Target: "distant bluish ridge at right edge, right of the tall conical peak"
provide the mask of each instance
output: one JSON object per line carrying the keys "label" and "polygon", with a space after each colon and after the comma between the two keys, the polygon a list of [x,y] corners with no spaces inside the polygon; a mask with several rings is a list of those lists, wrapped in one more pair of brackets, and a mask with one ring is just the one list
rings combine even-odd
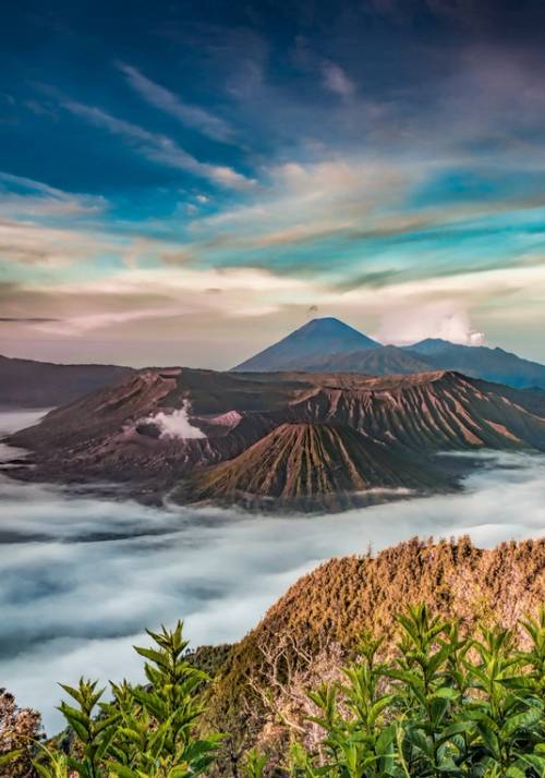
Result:
{"label": "distant bluish ridge at right edge, right of the tall conical peak", "polygon": [[404,347],[416,358],[438,369],[459,370],[467,376],[524,389],[545,388],[545,365],[523,360],[502,349],[460,345],[446,340],[423,340]]}

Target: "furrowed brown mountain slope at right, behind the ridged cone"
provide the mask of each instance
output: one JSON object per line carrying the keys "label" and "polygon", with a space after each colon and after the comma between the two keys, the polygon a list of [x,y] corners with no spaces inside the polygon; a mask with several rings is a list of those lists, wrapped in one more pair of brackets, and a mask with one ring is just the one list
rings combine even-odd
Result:
{"label": "furrowed brown mountain slope at right, behind the ridged cone", "polygon": [[[514,392],[514,394],[513,394]],[[292,404],[308,421],[344,424],[393,449],[424,451],[463,449],[545,450],[545,418],[534,414],[525,393],[504,391],[457,373],[361,378],[350,388],[322,386]]]}

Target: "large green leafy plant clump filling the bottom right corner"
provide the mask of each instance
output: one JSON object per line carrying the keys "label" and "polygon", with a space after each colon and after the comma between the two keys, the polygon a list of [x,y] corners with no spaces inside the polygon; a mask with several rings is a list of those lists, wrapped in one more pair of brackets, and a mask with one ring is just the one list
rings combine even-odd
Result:
{"label": "large green leafy plant clump filling the bottom right corner", "polygon": [[528,652],[511,630],[461,637],[456,621],[410,608],[387,664],[377,658],[382,641],[366,635],[344,680],[308,693],[323,738],[313,749],[292,745],[289,774],[543,778],[545,609],[523,627]]}

